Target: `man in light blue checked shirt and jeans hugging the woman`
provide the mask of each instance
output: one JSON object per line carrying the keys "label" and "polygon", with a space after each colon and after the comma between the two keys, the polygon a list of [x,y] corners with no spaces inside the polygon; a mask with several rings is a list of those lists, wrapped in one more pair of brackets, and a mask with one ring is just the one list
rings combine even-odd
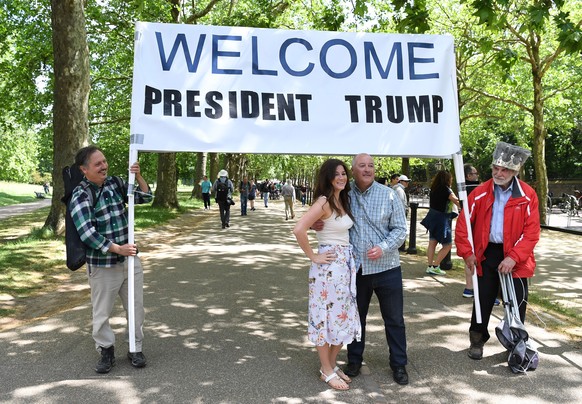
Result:
{"label": "man in light blue checked shirt and jeans hugging the woman", "polygon": [[[356,289],[362,326],[361,341],[348,345],[348,364],[344,373],[360,374],[366,344],[366,317],[375,293],[384,320],[389,362],[396,383],[408,384],[406,365],[406,332],[402,269],[398,247],[406,239],[404,205],[396,192],[374,180],[374,159],[358,154],[352,162],[354,181],[351,183],[350,207],[354,225],[350,229],[350,244],[356,259]],[[312,226],[321,230],[321,223]]]}

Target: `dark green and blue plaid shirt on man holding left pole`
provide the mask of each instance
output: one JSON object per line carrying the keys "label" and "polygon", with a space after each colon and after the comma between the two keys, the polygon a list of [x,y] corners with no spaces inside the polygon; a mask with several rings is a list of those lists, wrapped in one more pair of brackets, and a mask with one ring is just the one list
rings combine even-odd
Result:
{"label": "dark green and blue plaid shirt on man holding left pole", "polygon": [[[109,252],[112,243],[123,245],[127,244],[129,239],[124,200],[127,195],[127,184],[123,182],[123,189],[120,189],[114,179],[107,177],[103,187],[99,188],[87,179],[84,181],[87,181],[95,191],[96,201],[90,195],[91,191],[81,185],[77,186],[69,202],[71,217],[81,241],[87,246],[87,263],[111,267],[125,258]],[[137,184],[135,189],[136,204],[152,200],[150,189],[146,194],[137,193],[140,191]]]}

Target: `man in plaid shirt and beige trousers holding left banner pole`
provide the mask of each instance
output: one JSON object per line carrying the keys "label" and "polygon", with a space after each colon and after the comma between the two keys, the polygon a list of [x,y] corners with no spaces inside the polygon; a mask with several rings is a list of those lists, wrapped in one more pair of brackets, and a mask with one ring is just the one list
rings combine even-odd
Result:
{"label": "man in plaid shirt and beige trousers holding left banner pole", "polygon": [[[128,307],[127,259],[135,256],[135,346],[137,352],[128,357],[135,367],[146,365],[142,353],[143,341],[143,269],[137,257],[137,246],[128,243],[128,219],[125,207],[127,184],[109,177],[107,159],[96,146],[87,146],[77,152],[75,163],[85,175],[74,191],[69,206],[79,236],[87,247],[87,277],[91,286],[93,305],[93,339],[101,359],[97,373],[108,373],[115,365],[115,335],[109,317],[119,295],[123,307]],[[135,174],[139,188],[136,203],[150,202],[151,192],[140,174],[139,163],[130,171]],[[146,191],[145,193],[143,191]]]}

